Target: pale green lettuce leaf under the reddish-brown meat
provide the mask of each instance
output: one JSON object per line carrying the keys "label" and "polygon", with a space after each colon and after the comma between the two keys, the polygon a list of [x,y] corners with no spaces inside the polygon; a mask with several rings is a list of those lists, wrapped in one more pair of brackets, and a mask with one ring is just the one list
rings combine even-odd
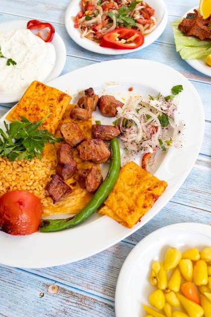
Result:
{"label": "pale green lettuce leaf under the reddish-brown meat", "polygon": [[178,19],[171,22],[176,51],[180,53],[182,59],[198,59],[211,54],[211,41],[200,41],[195,36],[186,36],[184,32],[178,29],[178,25],[182,21]]}

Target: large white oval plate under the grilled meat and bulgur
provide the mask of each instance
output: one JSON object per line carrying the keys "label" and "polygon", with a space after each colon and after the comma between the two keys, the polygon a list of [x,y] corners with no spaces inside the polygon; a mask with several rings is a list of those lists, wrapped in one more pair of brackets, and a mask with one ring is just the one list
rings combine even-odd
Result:
{"label": "large white oval plate under the grilled meat and bulgur", "polygon": [[[140,76],[139,69],[144,77]],[[187,78],[171,67],[141,59],[112,60],[79,68],[49,83],[49,86],[70,94],[73,103],[90,87],[99,95],[110,94],[121,100],[130,98],[132,93],[170,95],[175,85],[182,85],[184,89],[178,110],[179,118],[186,123],[186,145],[161,152],[153,174],[164,179],[168,186],[141,222],[128,229],[110,217],[96,213],[80,225],[59,232],[35,232],[28,236],[0,232],[0,263],[31,268],[61,265],[84,259],[118,243],[141,228],[170,201],[188,176],[201,146],[204,131],[201,100]],[[133,92],[129,91],[130,87]],[[0,128],[3,128],[4,118],[0,120]],[[101,123],[109,124],[107,119],[101,116]]]}

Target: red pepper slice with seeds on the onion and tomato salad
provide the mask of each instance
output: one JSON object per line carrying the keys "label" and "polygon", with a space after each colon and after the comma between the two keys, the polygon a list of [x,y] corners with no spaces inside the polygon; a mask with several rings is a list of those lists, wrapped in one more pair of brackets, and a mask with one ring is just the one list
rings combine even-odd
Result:
{"label": "red pepper slice with seeds on the onion and tomato salad", "polygon": [[133,50],[144,44],[144,35],[139,31],[121,27],[103,35],[100,46],[116,50]]}

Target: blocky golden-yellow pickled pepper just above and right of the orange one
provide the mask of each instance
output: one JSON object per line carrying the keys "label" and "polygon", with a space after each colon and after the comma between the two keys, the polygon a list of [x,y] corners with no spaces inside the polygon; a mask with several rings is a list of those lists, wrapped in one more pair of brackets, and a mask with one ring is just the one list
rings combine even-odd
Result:
{"label": "blocky golden-yellow pickled pepper just above and right of the orange one", "polygon": [[198,260],[193,265],[193,283],[197,286],[206,285],[208,282],[207,264],[204,260]]}

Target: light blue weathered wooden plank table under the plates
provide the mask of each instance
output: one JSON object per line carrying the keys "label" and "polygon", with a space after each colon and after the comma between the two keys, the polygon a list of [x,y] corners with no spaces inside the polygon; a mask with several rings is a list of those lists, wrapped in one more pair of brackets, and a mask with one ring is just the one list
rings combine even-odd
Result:
{"label": "light blue weathered wooden plank table under the plates", "polygon": [[[89,52],[72,41],[64,25],[69,3],[68,0],[2,0],[0,21],[37,19],[54,24],[67,50],[62,74],[114,58],[142,58],[175,68],[188,78],[201,98],[205,113],[204,138],[189,176],[171,201],[123,241],[89,258],[57,267],[18,269],[0,265],[0,316],[4,317],[115,316],[114,296],[118,274],[126,256],[139,241],[169,224],[211,224],[211,77],[193,69],[176,53],[170,25],[171,21],[197,6],[198,1],[165,0],[168,21],[162,35],[143,50],[115,57]],[[0,115],[11,106],[13,104],[1,105]]]}

